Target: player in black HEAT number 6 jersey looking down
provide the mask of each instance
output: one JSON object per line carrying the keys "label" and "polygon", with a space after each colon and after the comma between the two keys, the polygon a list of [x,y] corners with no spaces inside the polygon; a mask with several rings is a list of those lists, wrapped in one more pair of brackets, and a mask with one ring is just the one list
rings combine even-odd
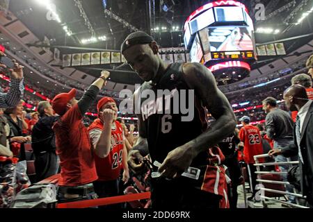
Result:
{"label": "player in black HEAT number 6 jersey looking down", "polygon": [[[129,164],[133,169],[141,169],[138,160],[147,153],[152,162],[160,163],[161,177],[152,178],[151,182],[152,207],[219,207],[225,193],[225,171],[218,164],[209,169],[208,158],[218,155],[212,153],[216,149],[210,148],[234,131],[236,118],[214,76],[199,63],[166,64],[159,57],[157,42],[141,31],[126,38],[121,52],[145,80],[134,94],[135,112],[136,108],[140,111],[136,112],[139,138],[129,152]],[[166,89],[172,94],[170,103],[166,96],[143,98],[145,92],[157,94],[157,90]],[[191,119],[186,117],[182,105],[194,110]],[[210,128],[207,110],[216,119]],[[193,173],[200,171],[198,179],[181,176],[188,167],[195,168]]]}

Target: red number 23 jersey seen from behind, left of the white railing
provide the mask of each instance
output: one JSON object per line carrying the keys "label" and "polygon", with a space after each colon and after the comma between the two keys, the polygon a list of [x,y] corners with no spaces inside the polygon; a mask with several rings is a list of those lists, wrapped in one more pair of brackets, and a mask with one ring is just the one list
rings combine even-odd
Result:
{"label": "red number 23 jersey seen from behind, left of the white railing", "polygon": [[259,128],[252,125],[243,126],[239,132],[239,138],[244,143],[243,159],[247,164],[254,164],[253,156],[263,154],[262,137],[259,134]]}

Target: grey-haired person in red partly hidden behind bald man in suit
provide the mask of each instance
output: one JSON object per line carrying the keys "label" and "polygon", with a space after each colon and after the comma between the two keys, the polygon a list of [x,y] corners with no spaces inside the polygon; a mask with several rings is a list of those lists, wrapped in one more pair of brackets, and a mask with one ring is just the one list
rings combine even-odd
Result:
{"label": "grey-haired person in red partly hidden behind bald man in suit", "polygon": [[[312,88],[312,78],[307,74],[298,74],[291,78],[291,85],[302,85],[305,87],[305,91],[307,92],[307,98],[313,100],[313,88]],[[296,123],[298,111],[291,112],[291,118]]]}

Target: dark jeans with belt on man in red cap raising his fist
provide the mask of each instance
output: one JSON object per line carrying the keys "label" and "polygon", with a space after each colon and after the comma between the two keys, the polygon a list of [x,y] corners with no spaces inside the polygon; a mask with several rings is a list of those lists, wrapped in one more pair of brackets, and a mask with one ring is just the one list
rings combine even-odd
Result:
{"label": "dark jeans with belt on man in red cap raising his fist", "polygon": [[78,200],[93,200],[97,198],[98,196],[95,193],[95,189],[93,189],[92,183],[77,187],[58,187],[58,203],[74,202]]}

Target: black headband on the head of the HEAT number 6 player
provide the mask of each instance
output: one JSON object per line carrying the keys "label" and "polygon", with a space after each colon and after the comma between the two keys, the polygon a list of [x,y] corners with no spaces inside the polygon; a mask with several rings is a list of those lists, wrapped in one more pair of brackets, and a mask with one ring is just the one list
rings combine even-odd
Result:
{"label": "black headband on the head of the HEAT number 6 player", "polygon": [[131,33],[126,37],[126,39],[122,43],[122,46],[120,46],[120,51],[121,53],[123,53],[123,51],[129,49],[131,46],[134,46],[136,44],[150,44],[153,41],[153,37],[143,31]]}

